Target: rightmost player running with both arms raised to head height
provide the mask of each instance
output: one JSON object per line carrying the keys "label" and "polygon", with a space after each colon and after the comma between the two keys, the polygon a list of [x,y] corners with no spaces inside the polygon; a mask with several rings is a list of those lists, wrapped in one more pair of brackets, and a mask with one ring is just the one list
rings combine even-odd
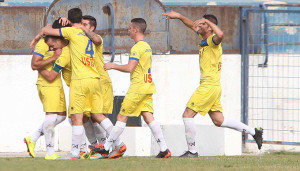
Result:
{"label": "rightmost player running with both arms raised to head height", "polygon": [[204,15],[203,18],[191,21],[187,17],[171,11],[164,13],[167,19],[179,19],[187,27],[194,30],[202,39],[199,49],[201,81],[194,92],[183,113],[185,135],[188,151],[180,157],[198,157],[196,149],[196,125],[194,117],[197,113],[209,114],[213,123],[218,127],[231,128],[240,132],[251,134],[255,139],[258,149],[262,146],[262,128],[252,128],[239,121],[223,116],[221,106],[221,67],[223,32],[217,26],[218,21],[214,15]]}

